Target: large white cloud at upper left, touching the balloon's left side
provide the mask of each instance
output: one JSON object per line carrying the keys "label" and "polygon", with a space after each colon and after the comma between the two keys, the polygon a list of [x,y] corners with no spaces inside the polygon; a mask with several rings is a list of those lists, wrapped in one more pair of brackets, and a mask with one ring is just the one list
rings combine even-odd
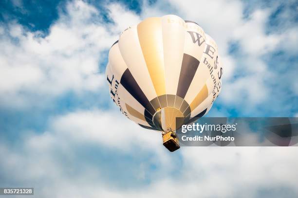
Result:
{"label": "large white cloud at upper left, touching the balloon's left side", "polygon": [[121,12],[125,16],[116,18],[115,25],[106,25],[94,21],[102,19],[90,4],[69,2],[66,14],[60,12],[48,35],[10,23],[0,36],[1,105],[26,107],[32,100],[56,97],[69,90],[98,91],[104,85],[104,74],[99,73],[104,71],[98,66],[103,61],[100,54],[117,39],[118,26],[135,17],[120,7],[113,9],[112,16]]}

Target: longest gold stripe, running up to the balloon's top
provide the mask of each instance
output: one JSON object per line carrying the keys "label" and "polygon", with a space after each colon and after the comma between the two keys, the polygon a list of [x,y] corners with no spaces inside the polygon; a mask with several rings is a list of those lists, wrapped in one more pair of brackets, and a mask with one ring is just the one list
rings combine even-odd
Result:
{"label": "longest gold stripe, running up to the balloon's top", "polygon": [[148,18],[137,26],[139,42],[157,96],[166,94],[161,18]]}

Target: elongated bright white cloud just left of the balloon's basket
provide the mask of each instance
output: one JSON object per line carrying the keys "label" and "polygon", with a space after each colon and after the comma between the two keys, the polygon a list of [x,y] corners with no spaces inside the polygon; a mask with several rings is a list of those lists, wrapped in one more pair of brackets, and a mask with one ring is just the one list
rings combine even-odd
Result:
{"label": "elongated bright white cloud just left of the balloon's basket", "polygon": [[[79,111],[59,116],[53,122],[53,131],[69,137],[78,142],[94,142],[113,148],[127,150],[133,143],[150,143],[146,147],[160,144],[161,134],[149,135],[140,126],[137,126],[124,117],[119,111],[102,112]],[[121,126],[125,126],[127,132],[121,132]],[[160,136],[157,138],[157,136]],[[145,146],[145,144],[142,144]]]}

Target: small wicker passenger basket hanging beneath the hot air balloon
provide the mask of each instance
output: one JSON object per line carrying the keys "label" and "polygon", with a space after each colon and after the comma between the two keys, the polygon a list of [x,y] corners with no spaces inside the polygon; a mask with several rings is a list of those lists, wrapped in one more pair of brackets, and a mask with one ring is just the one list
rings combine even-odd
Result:
{"label": "small wicker passenger basket hanging beneath the hot air balloon", "polygon": [[163,144],[168,148],[169,151],[173,152],[180,148],[179,139],[175,131],[172,131],[171,128],[168,128],[167,131],[162,132]]}

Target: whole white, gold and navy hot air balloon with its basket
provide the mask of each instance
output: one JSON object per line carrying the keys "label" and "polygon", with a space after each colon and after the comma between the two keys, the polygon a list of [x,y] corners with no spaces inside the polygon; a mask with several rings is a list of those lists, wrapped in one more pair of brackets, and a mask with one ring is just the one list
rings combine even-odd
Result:
{"label": "whole white, gold and navy hot air balloon with its basket", "polygon": [[[175,15],[127,28],[112,45],[106,68],[113,102],[139,126],[162,131],[170,151],[180,148],[176,129],[210,110],[222,74],[214,40]],[[178,117],[183,121],[176,123]]]}

